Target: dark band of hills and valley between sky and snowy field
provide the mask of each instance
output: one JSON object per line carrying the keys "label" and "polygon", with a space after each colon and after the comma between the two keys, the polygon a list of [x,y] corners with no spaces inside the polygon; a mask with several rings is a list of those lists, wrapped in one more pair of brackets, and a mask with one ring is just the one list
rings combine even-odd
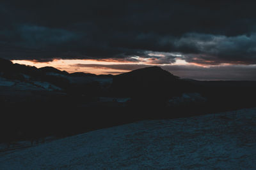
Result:
{"label": "dark band of hills and valley between sky and snowy field", "polygon": [[182,80],[161,67],[95,75],[0,60],[1,143],[256,106],[255,81]]}

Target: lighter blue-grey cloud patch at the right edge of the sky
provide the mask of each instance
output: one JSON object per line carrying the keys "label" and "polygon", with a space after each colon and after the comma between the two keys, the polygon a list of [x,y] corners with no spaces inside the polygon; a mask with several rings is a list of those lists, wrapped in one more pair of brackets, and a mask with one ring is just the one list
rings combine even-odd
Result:
{"label": "lighter blue-grey cloud patch at the right edge of the sky", "polygon": [[250,36],[220,36],[211,34],[188,34],[176,42],[177,47],[190,46],[196,53],[186,53],[187,62],[198,64],[256,63],[256,34]]}

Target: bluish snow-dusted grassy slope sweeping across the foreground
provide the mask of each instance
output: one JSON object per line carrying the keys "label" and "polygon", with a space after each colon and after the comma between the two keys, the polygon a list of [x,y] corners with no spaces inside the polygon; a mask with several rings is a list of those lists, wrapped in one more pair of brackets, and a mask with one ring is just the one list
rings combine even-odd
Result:
{"label": "bluish snow-dusted grassy slope sweeping across the foreground", "polygon": [[0,169],[256,169],[256,108],[142,121],[1,152]]}

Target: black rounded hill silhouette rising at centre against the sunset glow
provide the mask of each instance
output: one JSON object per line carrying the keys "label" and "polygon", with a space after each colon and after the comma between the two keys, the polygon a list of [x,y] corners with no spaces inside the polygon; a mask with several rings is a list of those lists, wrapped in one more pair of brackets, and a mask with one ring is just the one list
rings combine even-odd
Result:
{"label": "black rounded hill silhouette rising at centre against the sunset glow", "polygon": [[183,83],[161,67],[145,67],[113,77],[113,90],[121,96],[175,96]]}

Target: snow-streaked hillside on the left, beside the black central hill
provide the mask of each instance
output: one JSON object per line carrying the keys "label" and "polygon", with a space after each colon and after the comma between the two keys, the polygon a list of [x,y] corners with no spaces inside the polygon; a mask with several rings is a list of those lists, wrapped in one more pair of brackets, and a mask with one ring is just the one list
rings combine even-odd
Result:
{"label": "snow-streaked hillside on the left, beside the black central hill", "polygon": [[[93,87],[104,89],[112,83],[111,75],[95,75],[88,73],[67,73],[55,67],[31,67],[13,64],[0,58],[0,91],[2,87],[19,90],[48,90],[92,92]],[[88,93],[88,91],[86,91]],[[99,91],[99,90],[98,90]],[[84,93],[86,93],[84,92]],[[94,91],[93,91],[94,92]]]}

